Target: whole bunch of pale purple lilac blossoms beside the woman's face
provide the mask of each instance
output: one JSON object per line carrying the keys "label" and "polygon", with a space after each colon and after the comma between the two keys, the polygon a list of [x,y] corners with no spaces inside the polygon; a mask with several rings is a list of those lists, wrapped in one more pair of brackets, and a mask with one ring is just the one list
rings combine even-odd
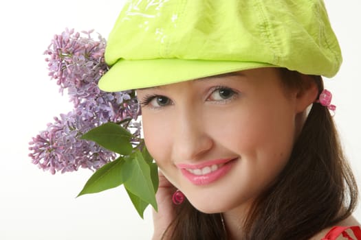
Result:
{"label": "whole bunch of pale purple lilac blossoms beside the woman's face", "polygon": [[47,129],[32,138],[30,144],[32,163],[41,169],[76,171],[79,167],[98,169],[116,158],[109,150],[80,136],[103,123],[113,121],[132,130],[133,141],[140,139],[140,115],[134,91],[107,93],[100,91],[98,81],[109,69],[104,60],[106,40],[98,34],[98,40],[90,32],[74,32],[65,29],[55,35],[45,51],[49,56],[49,75],[56,80],[63,94],[66,89],[74,109],[54,117]]}

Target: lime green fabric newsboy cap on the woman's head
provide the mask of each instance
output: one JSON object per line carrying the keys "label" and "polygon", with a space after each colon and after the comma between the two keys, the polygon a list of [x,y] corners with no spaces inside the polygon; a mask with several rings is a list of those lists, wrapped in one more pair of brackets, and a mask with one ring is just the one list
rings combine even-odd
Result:
{"label": "lime green fabric newsboy cap on the woman's head", "polygon": [[103,91],[285,67],[332,77],[342,56],[321,0],[134,0],[109,34]]}

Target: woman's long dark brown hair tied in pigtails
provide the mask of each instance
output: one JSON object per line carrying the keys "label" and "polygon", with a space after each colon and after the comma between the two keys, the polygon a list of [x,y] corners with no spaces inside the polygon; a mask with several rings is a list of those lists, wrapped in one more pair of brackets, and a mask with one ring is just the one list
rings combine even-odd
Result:
{"label": "woman's long dark brown hair tied in pigtails", "polygon": [[[306,75],[287,69],[280,73],[286,88],[305,87]],[[322,78],[308,77],[320,93]],[[309,239],[349,217],[357,199],[356,182],[330,112],[313,104],[285,169],[250,209],[243,226],[244,239]],[[177,208],[168,231],[174,240],[227,239],[219,213],[201,213],[188,201]]]}

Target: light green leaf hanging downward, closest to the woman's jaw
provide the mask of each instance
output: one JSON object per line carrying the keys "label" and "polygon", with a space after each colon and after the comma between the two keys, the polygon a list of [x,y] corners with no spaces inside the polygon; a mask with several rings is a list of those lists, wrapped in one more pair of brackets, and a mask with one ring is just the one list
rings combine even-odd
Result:
{"label": "light green leaf hanging downward, closest to the woman's jaw", "polygon": [[[139,150],[124,161],[122,176],[127,178],[124,187],[128,191],[140,197],[142,201],[151,204],[157,210],[151,169]],[[138,207],[135,206],[135,208]]]}

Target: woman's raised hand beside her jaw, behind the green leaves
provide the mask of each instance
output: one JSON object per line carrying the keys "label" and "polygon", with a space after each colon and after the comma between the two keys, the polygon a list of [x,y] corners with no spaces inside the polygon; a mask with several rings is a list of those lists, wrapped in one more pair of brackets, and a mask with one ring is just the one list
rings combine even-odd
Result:
{"label": "woman's raised hand beside her jaw, behind the green leaves", "polygon": [[[153,240],[162,239],[165,230],[175,218],[175,205],[172,202],[172,195],[177,189],[166,179],[166,177],[164,177],[161,171],[159,171],[159,180],[158,191],[155,195],[158,211],[156,212],[153,210]],[[172,231],[169,230],[168,235],[171,234],[171,232]],[[163,239],[170,239],[167,237],[168,235],[165,235]]]}

